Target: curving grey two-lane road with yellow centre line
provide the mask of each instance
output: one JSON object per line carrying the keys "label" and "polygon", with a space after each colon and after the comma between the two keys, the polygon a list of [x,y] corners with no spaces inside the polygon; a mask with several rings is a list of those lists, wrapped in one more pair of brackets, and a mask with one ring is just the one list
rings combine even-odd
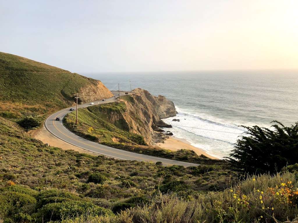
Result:
{"label": "curving grey two-lane road with yellow centre line", "polygon": [[[114,94],[118,94],[118,92],[113,92]],[[124,92],[121,92],[121,95],[123,95]],[[102,104],[102,103],[109,103],[109,102],[114,102],[116,101],[117,98],[108,98],[105,101],[94,101],[94,105]],[[92,106],[89,103],[79,105],[79,108],[85,108]],[[70,108],[76,108],[70,107]],[[125,150],[119,150],[113,147],[105,146],[98,144],[96,142],[91,142],[87,139],[83,139],[80,136],[77,136],[70,132],[63,124],[62,124],[62,119],[63,117],[71,112],[69,111],[70,108],[63,109],[59,112],[56,112],[49,116],[46,121],[45,121],[45,127],[46,129],[52,133],[54,136],[58,137],[59,139],[62,139],[65,142],[68,142],[74,146],[80,147],[84,150],[89,150],[94,153],[98,153],[104,156],[108,157],[113,157],[117,159],[124,159],[124,160],[137,160],[137,161],[145,161],[145,162],[153,162],[156,163],[158,161],[161,161],[164,165],[182,165],[185,167],[189,166],[198,166],[198,164],[193,164],[193,163],[187,163],[187,162],[181,162],[181,161],[175,161],[175,160],[170,160],[170,159],[164,159],[164,158],[159,158],[155,156],[147,156],[139,153],[132,153],[128,152]],[[60,121],[56,121],[56,117],[60,117]]]}

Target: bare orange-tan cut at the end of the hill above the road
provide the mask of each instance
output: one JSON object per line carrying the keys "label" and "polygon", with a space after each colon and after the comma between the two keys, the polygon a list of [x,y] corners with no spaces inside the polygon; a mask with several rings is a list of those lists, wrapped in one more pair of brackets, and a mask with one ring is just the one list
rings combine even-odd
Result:
{"label": "bare orange-tan cut at the end of the hill above the road", "polygon": [[112,92],[101,81],[81,87],[79,94],[83,103],[113,97]]}

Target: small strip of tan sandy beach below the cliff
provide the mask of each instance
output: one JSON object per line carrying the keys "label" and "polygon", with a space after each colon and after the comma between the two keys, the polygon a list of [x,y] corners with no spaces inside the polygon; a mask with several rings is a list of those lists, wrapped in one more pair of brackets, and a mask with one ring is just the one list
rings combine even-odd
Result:
{"label": "small strip of tan sandy beach below the cliff", "polygon": [[203,154],[204,156],[207,156],[209,158],[217,159],[216,157],[210,156],[209,154],[207,154],[204,150],[190,145],[190,143],[187,140],[180,139],[174,136],[169,136],[169,138],[166,139],[164,143],[156,143],[156,145],[161,147],[162,149],[167,149],[172,151],[177,151],[181,149],[193,150],[198,155]]}

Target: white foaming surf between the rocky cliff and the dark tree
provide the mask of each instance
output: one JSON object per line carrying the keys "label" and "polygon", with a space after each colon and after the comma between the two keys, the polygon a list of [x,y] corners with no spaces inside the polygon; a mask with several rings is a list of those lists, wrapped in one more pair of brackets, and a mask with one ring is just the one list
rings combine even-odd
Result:
{"label": "white foaming surf between the rocky cliff and the dark tree", "polygon": [[[195,147],[206,150],[207,153],[218,158],[228,156],[233,149],[238,136],[245,129],[233,123],[224,123],[215,117],[200,117],[192,111],[176,106],[176,117],[164,119],[173,126],[174,136],[184,138]],[[180,121],[173,121],[179,119]]]}

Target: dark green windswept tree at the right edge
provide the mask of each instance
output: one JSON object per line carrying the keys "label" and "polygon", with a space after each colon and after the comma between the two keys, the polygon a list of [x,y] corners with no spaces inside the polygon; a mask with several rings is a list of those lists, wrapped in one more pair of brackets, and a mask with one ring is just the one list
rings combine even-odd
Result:
{"label": "dark green windswept tree at the right edge", "polygon": [[232,168],[249,174],[274,173],[298,162],[298,122],[291,127],[272,123],[276,123],[272,125],[274,131],[257,125],[242,126],[249,136],[241,136],[227,158]]}

